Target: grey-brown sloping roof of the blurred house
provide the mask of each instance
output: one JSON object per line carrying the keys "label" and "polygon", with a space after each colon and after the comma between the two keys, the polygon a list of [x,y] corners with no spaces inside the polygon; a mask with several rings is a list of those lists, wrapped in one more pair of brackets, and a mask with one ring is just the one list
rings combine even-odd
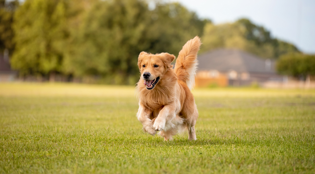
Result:
{"label": "grey-brown sloping roof of the blurred house", "polygon": [[236,49],[217,49],[198,55],[198,70],[276,73],[275,61]]}

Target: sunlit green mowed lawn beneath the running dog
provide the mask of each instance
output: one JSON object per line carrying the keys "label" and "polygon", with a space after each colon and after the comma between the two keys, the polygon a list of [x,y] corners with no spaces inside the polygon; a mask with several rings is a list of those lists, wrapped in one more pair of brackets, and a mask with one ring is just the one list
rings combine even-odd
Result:
{"label": "sunlit green mowed lawn beneath the running dog", "polygon": [[193,90],[199,118],[163,141],[135,87],[0,83],[0,173],[315,173],[315,90]]}

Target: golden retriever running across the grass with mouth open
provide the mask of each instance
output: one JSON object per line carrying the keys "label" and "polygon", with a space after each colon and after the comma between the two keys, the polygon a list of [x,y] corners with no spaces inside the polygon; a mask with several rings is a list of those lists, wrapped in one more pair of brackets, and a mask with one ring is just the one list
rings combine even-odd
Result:
{"label": "golden retriever running across the grass with mouth open", "polygon": [[198,36],[189,40],[179,52],[174,69],[174,55],[140,53],[137,118],[144,131],[152,135],[159,131],[167,141],[187,128],[188,139],[196,140],[198,110],[190,90],[195,84],[200,45]]}

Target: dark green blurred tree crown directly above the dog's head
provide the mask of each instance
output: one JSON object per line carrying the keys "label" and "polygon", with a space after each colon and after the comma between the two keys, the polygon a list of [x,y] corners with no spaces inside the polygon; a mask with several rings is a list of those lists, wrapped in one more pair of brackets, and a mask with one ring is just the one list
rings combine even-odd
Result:
{"label": "dark green blurred tree crown directly above the dog's head", "polygon": [[157,4],[149,12],[145,38],[149,42],[144,48],[148,52],[168,52],[178,55],[187,40],[202,36],[203,28],[210,20],[201,20],[196,13],[189,12],[179,3]]}

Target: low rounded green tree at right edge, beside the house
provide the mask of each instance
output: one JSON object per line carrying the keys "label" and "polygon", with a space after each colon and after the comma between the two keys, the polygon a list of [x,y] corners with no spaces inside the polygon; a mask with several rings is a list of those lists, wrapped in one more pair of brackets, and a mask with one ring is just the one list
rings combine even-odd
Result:
{"label": "low rounded green tree at right edge, beside the house", "polygon": [[284,75],[306,79],[315,76],[315,55],[287,54],[280,56],[277,70]]}

